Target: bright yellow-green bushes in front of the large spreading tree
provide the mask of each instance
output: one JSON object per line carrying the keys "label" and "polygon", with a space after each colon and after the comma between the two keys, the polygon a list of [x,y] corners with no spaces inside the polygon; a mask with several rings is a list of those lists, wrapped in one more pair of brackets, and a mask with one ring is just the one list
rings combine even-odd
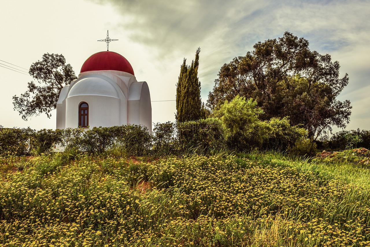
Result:
{"label": "bright yellow-green bushes in front of the large spreading tree", "polygon": [[307,136],[299,126],[291,126],[289,118],[262,121],[263,110],[253,99],[236,95],[213,111],[226,130],[226,145],[231,150],[249,151],[253,148],[285,151]]}

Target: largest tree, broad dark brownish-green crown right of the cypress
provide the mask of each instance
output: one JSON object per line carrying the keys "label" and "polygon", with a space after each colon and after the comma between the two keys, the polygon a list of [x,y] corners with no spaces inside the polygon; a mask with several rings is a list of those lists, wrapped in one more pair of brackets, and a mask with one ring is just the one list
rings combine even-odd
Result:
{"label": "largest tree, broad dark brownish-green crown right of the cypress", "polygon": [[352,107],[348,100],[336,99],[349,81],[347,74],[339,77],[339,62],[311,51],[308,40],[289,32],[253,48],[221,67],[208,95],[209,108],[240,95],[257,101],[265,112],[261,119],[289,116],[310,138],[332,131],[332,126],[345,128]]}

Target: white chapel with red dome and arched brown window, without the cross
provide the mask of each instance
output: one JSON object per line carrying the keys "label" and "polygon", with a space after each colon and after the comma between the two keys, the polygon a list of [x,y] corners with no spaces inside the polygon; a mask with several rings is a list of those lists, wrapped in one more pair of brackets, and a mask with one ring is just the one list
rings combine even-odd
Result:
{"label": "white chapel with red dome and arched brown window, without the cross", "polygon": [[147,82],[138,82],[125,57],[111,51],[91,55],[78,79],[64,86],[57,102],[57,129],[144,125],[152,131]]}

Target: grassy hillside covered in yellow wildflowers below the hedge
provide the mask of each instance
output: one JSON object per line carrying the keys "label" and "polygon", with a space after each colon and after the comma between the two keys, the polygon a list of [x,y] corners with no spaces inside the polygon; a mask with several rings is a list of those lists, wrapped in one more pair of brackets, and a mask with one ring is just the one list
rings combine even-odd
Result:
{"label": "grassy hillside covered in yellow wildflowers below the hedge", "polygon": [[281,155],[3,158],[1,246],[370,246],[370,172]]}

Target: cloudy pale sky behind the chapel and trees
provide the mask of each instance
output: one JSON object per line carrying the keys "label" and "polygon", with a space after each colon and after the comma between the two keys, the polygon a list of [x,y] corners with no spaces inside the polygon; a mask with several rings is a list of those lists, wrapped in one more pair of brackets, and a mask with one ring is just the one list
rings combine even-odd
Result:
{"label": "cloudy pale sky behind the chapel and trees", "polygon": [[27,90],[32,78],[26,71],[44,53],[63,54],[78,75],[90,55],[106,49],[97,40],[105,39],[107,30],[118,39],[110,50],[128,59],[138,81],[148,83],[152,101],[164,101],[152,102],[153,122],[174,121],[171,100],[180,65],[184,57],[190,63],[198,47],[206,102],[224,63],[289,31],[309,40],[311,50],[339,61],[341,76],[350,78],[339,96],[353,106],[347,129],[369,130],[369,13],[367,0],[2,1],[0,125],[55,129],[55,112],[51,119],[41,114],[23,121],[12,96]]}

